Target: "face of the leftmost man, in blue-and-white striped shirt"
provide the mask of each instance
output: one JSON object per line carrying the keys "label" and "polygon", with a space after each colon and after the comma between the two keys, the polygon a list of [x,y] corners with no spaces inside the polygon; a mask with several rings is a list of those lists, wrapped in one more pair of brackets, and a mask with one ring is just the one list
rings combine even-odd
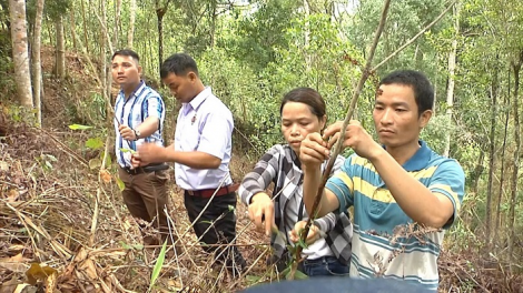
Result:
{"label": "face of the leftmost man, in blue-and-white striped shirt", "polygon": [[140,82],[141,67],[130,55],[115,55],[111,69],[112,79],[122,88]]}

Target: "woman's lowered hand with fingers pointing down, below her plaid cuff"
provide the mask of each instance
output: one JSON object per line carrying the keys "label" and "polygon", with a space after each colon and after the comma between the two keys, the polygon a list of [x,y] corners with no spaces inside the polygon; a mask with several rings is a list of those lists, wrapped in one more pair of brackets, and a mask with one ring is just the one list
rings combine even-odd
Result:
{"label": "woman's lowered hand with fingers pointing down, below her plaid cuff", "polygon": [[265,218],[265,234],[270,236],[270,230],[275,225],[274,222],[274,202],[270,196],[265,193],[256,193],[249,204],[249,219],[254,222],[257,230],[263,230],[262,224]]}

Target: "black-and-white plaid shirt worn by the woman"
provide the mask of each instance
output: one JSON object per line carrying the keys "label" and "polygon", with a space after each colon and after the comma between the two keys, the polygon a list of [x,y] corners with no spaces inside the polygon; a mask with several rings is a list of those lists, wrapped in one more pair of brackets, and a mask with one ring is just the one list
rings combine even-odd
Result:
{"label": "black-and-white plaid shirt worn by the woman", "polygon": [[[334,163],[332,174],[339,171],[345,158],[338,156]],[[327,166],[327,161],[322,164],[322,170]],[[275,222],[282,233],[273,233],[270,243],[277,259],[286,251],[287,240],[285,235],[285,210],[289,209],[287,202],[296,196],[297,189],[303,189],[303,171],[296,153],[288,144],[276,144],[270,148],[256,164],[255,169],[247,173],[239,186],[239,196],[245,204],[250,203],[254,194],[265,192],[270,182],[275,183],[273,194],[280,194],[274,200]],[[308,218],[304,212],[304,219]],[[334,255],[344,264],[351,261],[353,225],[346,213],[328,213],[314,220],[314,223],[327,234],[326,242]]]}

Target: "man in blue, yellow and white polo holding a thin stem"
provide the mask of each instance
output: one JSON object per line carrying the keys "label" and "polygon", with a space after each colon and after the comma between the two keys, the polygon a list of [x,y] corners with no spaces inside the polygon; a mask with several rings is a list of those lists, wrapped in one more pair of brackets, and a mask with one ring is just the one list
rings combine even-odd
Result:
{"label": "man in blue, yellow and white polo holding a thin stem", "polygon": [[[395,71],[381,81],[375,98],[373,119],[381,144],[357,121],[344,130],[343,146],[355,154],[328,180],[318,216],[354,206],[352,276],[398,279],[437,290],[437,257],[463,201],[465,176],[455,160],[420,140],[433,103],[434,90],[423,73]],[[302,142],[308,213],[320,182],[319,165],[341,125]]]}

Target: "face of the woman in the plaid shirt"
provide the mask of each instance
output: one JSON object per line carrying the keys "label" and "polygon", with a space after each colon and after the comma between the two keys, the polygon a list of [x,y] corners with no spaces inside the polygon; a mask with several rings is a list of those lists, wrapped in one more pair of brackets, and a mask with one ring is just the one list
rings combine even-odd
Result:
{"label": "face of the woman in the plaid shirt", "polygon": [[287,102],[282,109],[282,132],[290,148],[299,153],[302,141],[308,133],[319,132],[325,127],[326,118],[318,119],[309,105],[299,102]]}

